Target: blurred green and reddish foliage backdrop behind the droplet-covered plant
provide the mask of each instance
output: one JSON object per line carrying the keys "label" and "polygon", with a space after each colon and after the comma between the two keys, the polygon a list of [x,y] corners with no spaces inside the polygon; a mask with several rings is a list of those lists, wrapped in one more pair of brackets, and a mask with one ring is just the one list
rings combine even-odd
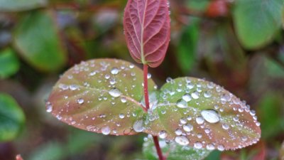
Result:
{"label": "blurred green and reddish foliage backdrop behind the droplet-covered plant", "polygon": [[[84,132],[45,112],[60,74],[81,60],[131,59],[126,0],[0,0],[0,159],[143,159],[143,137]],[[284,1],[171,0],[165,61],[150,72],[223,85],[256,110],[261,142],[207,159],[284,159]],[[134,62],[133,62],[134,63]],[[282,148],[281,148],[282,144]]]}

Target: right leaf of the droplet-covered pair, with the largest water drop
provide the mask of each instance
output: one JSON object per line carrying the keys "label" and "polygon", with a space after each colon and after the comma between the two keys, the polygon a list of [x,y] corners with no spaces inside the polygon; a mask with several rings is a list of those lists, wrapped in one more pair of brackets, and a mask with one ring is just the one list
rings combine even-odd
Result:
{"label": "right leaf of the droplet-covered pair, with the largest water drop", "polygon": [[[163,85],[144,132],[182,145],[239,149],[258,142],[254,111],[223,87],[197,78],[177,78]],[[147,123],[147,122],[146,122]]]}

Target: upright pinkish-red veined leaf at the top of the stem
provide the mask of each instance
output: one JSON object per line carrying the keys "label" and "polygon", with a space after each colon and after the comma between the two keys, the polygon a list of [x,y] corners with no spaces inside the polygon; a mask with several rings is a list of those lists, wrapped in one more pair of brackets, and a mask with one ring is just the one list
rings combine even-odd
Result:
{"label": "upright pinkish-red veined leaf at the top of the stem", "polygon": [[167,0],[129,0],[124,11],[124,33],[131,57],[155,68],[162,63],[170,42]]}

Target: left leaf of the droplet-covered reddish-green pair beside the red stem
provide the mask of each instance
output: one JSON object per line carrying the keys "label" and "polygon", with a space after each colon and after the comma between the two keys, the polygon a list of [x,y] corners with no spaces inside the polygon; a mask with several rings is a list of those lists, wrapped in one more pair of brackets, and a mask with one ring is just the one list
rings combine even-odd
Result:
{"label": "left leaf of the droplet-covered reddish-green pair beside the red stem", "polygon": [[[140,103],[142,82],[142,70],[124,60],[82,62],[62,75],[50,94],[47,111],[91,132],[136,134],[145,114]],[[150,91],[154,85],[149,80]]]}

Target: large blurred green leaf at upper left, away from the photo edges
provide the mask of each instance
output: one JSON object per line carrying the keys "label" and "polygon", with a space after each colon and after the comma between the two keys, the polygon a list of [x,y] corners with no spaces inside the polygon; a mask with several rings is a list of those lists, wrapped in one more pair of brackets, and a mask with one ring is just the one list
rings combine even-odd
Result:
{"label": "large blurred green leaf at upper left, away from the photo edges", "polygon": [[52,72],[65,65],[67,55],[48,11],[33,11],[24,16],[13,43],[23,59],[38,70]]}

